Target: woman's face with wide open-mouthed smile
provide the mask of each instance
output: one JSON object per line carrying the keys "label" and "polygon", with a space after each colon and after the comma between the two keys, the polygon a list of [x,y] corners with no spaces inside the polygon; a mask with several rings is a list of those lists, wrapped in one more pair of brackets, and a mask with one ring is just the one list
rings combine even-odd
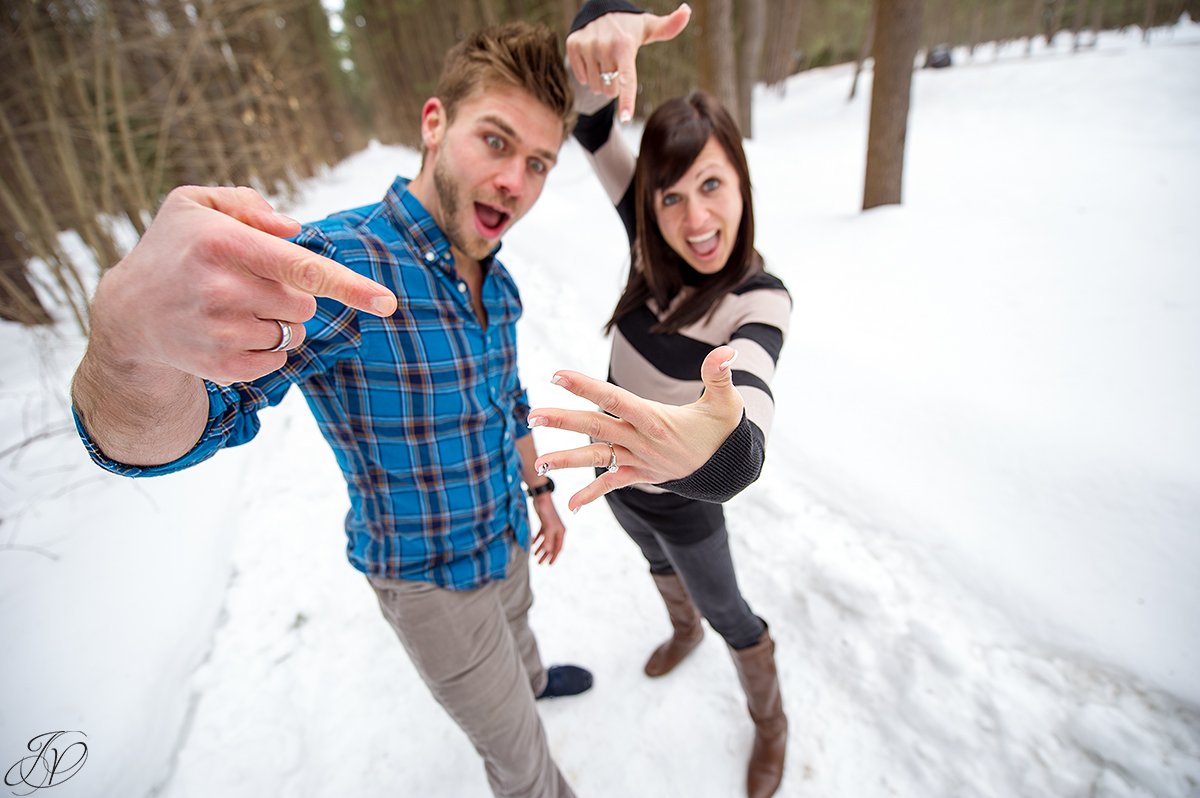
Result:
{"label": "woman's face with wide open-mouthed smile", "polygon": [[714,137],[672,186],[654,193],[666,242],[703,275],[725,268],[742,226],[742,180]]}

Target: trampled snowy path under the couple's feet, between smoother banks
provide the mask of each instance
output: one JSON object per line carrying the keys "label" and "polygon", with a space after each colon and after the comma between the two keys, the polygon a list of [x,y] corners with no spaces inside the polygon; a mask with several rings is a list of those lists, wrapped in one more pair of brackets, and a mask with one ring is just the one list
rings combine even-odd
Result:
{"label": "trampled snowy path under the couple's feet, between smoother banks", "polygon": [[[484,798],[474,751],[342,559],[338,474],[306,407],[286,409],[264,434],[305,467],[256,478],[163,794]],[[280,523],[281,504],[302,522]],[[641,674],[665,618],[598,510],[569,520],[566,556],[534,571],[545,658],[596,674],[587,696],[542,707],[556,755],[581,796],[737,794],[750,737],[728,654],[709,632],[674,676]],[[731,517],[744,590],[778,637],[793,724],[782,796],[1195,794],[1200,716],[1030,643],[928,552],[778,473]]]}

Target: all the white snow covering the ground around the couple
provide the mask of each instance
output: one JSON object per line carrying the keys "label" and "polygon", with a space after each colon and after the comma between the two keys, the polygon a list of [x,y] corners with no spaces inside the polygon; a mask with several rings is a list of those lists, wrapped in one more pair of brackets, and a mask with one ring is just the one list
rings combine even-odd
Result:
{"label": "all the white snow covering the ground around the couple", "polygon": [[[1200,25],[1060,44],[916,76],[902,208],[858,211],[848,67],[758,97],[760,248],[796,310],[768,466],[727,515],[779,647],[782,796],[1200,796]],[[415,167],[373,146],[284,210]],[[570,401],[556,368],[604,373],[623,240],[569,144],[504,251],[535,406]],[[248,446],[120,480],[68,426],[82,347],[0,326],[0,772],[70,731],[88,758],[55,798],[486,796],[344,560],[300,396]],[[587,476],[556,479],[565,504]],[[533,617],[547,661],[596,674],[542,707],[568,778],[739,794],[722,643],[644,678],[644,565],[602,504],[566,522]]]}

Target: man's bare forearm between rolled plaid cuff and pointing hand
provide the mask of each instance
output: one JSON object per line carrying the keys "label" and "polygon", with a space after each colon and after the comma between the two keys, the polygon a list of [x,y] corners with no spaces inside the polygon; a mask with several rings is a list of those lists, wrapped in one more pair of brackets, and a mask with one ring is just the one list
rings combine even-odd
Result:
{"label": "man's bare forearm between rolled plaid cuff and pointing hand", "polygon": [[208,424],[204,380],[168,367],[106,360],[95,342],[71,398],[88,434],[110,460],[158,466],[187,454]]}

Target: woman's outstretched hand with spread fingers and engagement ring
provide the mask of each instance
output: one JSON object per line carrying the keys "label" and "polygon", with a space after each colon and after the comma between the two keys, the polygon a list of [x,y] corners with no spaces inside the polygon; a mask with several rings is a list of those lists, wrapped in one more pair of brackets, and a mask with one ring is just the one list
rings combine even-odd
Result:
{"label": "woman's outstretched hand with spread fingers and engagement ring", "polygon": [[570,498],[566,506],[572,512],[618,487],[688,476],[708,462],[742,421],[744,403],[733,388],[731,370],[736,358],[732,347],[708,353],[700,370],[703,395],[678,407],[642,398],[578,372],[557,372],[554,384],[595,402],[600,409],[539,408],[529,413],[529,426],[582,432],[594,443],[542,455],[536,461],[538,473],[610,469]]}

